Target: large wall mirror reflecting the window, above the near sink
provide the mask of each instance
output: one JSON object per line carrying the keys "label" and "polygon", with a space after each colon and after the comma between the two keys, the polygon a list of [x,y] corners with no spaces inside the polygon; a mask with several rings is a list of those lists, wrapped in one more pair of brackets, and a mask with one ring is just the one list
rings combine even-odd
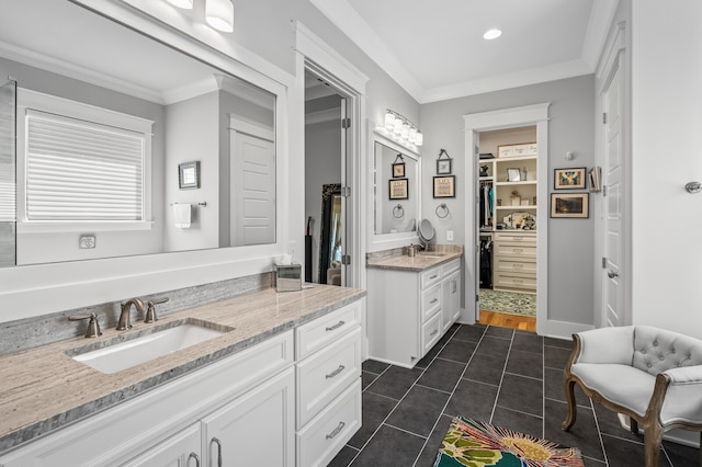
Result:
{"label": "large wall mirror reflecting the window, above the near sink", "polygon": [[0,266],[276,242],[273,93],[69,1],[2,9]]}

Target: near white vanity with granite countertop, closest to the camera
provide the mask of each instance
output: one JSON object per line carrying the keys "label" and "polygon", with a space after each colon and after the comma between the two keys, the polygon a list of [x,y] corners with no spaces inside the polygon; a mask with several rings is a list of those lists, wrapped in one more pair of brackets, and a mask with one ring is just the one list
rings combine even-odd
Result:
{"label": "near white vanity with granite countertop, closest to the camera", "polygon": [[361,425],[364,295],[264,289],[174,312],[157,326],[227,332],[113,374],[70,355],[115,330],[0,357],[0,465],[327,465]]}

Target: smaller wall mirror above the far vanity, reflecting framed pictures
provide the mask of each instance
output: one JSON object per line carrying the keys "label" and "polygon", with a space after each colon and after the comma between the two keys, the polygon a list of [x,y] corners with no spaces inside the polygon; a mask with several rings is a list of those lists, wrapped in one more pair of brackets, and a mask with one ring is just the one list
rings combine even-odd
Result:
{"label": "smaller wall mirror above the far vanity, reflecting framed pictures", "polygon": [[421,198],[419,166],[418,153],[375,134],[373,244],[417,238]]}

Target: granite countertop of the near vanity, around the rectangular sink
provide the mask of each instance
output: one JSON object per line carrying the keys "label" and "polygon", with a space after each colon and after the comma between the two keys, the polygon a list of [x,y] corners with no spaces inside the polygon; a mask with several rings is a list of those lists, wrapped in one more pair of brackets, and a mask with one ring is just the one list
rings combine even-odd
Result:
{"label": "granite countertop of the near vanity, around the rectangular sink", "polygon": [[[364,296],[358,288],[319,284],[282,294],[268,288],[169,314],[156,323],[133,320],[129,331],[103,329],[97,339],[75,338],[0,356],[0,453]],[[234,330],[110,375],[66,353],[184,318]]]}

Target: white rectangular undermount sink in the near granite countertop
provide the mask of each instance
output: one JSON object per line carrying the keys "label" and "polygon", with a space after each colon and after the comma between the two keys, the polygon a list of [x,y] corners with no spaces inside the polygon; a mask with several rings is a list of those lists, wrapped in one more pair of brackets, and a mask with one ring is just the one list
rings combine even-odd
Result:
{"label": "white rectangular undermount sink in the near granite countertop", "polygon": [[234,328],[195,319],[172,321],[67,352],[75,361],[112,374],[223,335]]}

